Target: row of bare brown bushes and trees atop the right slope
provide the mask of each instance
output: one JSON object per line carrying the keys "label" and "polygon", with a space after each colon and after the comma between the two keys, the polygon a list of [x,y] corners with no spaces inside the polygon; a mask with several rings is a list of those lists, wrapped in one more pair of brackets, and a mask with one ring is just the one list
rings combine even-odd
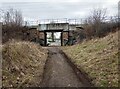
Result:
{"label": "row of bare brown bushes and trees atop the right slope", "polygon": [[107,18],[107,9],[94,9],[84,20],[82,29],[72,32],[74,38],[80,41],[89,40],[96,37],[104,37],[110,32],[120,30],[118,15],[111,16],[109,21],[106,21]]}

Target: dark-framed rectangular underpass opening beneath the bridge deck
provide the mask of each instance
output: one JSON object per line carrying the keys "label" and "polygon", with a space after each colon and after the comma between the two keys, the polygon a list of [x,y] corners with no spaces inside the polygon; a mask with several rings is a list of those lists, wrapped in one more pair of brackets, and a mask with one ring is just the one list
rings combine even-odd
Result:
{"label": "dark-framed rectangular underpass opening beneath the bridge deck", "polygon": [[65,40],[64,33],[67,33],[66,40],[69,39],[69,31],[64,31],[63,29],[51,29],[40,32],[44,33],[44,46],[63,46]]}

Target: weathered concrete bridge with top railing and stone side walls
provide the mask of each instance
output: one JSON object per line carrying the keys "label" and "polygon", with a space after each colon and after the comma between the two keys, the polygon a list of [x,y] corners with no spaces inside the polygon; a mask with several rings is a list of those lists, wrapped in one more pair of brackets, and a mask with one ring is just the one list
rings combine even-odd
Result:
{"label": "weathered concrete bridge with top railing and stone side walls", "polygon": [[[44,22],[44,21],[43,21]],[[63,45],[72,45],[73,44],[73,34],[72,31],[75,31],[77,26],[80,24],[70,24],[69,21],[64,20],[51,20],[44,23],[39,23],[37,30],[39,31],[38,39],[42,46],[63,46]],[[59,37],[56,39],[54,36],[58,34]],[[51,35],[48,37],[48,35]]]}

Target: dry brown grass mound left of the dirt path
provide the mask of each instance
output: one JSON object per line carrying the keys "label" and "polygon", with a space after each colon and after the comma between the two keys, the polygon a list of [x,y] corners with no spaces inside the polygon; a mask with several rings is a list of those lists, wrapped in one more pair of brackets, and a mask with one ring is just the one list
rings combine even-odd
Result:
{"label": "dry brown grass mound left of the dirt path", "polygon": [[2,50],[3,87],[39,87],[47,50],[31,42],[8,42]]}

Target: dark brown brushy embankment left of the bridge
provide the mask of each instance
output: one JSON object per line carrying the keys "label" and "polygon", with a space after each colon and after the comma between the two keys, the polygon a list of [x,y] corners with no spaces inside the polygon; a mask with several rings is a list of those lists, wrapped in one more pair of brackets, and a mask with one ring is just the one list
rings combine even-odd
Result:
{"label": "dark brown brushy embankment left of the bridge", "polygon": [[36,41],[38,39],[38,31],[30,29],[30,27],[2,27],[2,43],[6,43],[11,39],[19,41]]}

